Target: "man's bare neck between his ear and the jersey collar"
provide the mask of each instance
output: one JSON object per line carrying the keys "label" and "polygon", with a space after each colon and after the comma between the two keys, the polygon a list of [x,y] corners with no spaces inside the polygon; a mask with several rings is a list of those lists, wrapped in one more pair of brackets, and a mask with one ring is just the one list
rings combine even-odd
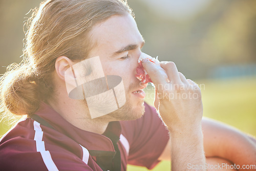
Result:
{"label": "man's bare neck between his ear and the jersey collar", "polygon": [[56,73],[54,78],[55,91],[53,98],[48,100],[49,105],[79,129],[103,134],[110,119],[102,117],[92,119],[86,102],[69,98],[65,81],[59,79]]}

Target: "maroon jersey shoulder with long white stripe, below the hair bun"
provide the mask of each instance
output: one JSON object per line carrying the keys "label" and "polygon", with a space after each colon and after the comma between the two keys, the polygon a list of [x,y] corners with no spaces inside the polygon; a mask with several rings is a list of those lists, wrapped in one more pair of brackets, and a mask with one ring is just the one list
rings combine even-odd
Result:
{"label": "maroon jersey shoulder with long white stripe, below the hair bun", "polygon": [[[0,142],[3,170],[92,170],[79,144],[32,119],[19,122]],[[87,162],[91,162],[91,157]]]}

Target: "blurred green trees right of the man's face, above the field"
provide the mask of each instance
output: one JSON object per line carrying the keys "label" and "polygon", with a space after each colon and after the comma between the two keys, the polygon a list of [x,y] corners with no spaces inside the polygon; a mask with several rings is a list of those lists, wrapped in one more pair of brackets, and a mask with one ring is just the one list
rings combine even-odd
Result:
{"label": "blurred green trees right of the man's face, above the field", "polygon": [[182,20],[144,2],[128,0],[146,40],[143,50],[174,61],[187,77],[206,78],[223,63],[256,62],[256,1],[215,0]]}

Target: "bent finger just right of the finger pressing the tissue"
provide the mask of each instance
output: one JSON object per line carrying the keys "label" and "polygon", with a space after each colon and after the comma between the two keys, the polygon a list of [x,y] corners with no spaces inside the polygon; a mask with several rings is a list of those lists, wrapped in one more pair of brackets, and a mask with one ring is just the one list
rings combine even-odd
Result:
{"label": "bent finger just right of the finger pressing the tissue", "polygon": [[174,84],[181,84],[181,78],[174,62],[160,62],[160,66],[166,71],[169,80]]}

